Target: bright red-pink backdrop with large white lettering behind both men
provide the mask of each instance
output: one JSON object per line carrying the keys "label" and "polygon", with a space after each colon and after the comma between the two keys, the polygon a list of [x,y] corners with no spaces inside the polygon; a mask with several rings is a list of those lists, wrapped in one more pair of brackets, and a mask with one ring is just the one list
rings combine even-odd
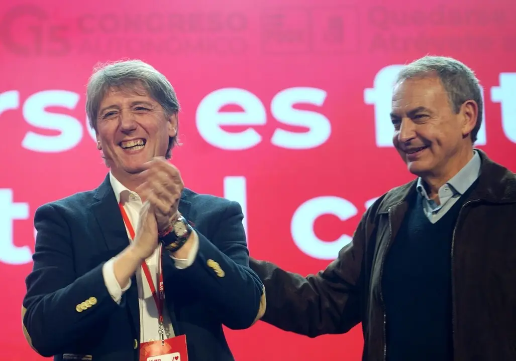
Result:
{"label": "bright red-pink backdrop with large white lettering behind both men", "polygon": [[[425,54],[470,65],[485,91],[479,146],[516,170],[513,0],[3,2],[0,5],[0,355],[37,360],[20,308],[36,208],[104,167],[85,85],[139,58],[178,92],[187,187],[241,203],[253,256],[308,274],[349,242],[368,201],[412,176],[390,144],[390,84]],[[228,331],[238,360],[359,360],[360,327],[308,339]]]}

